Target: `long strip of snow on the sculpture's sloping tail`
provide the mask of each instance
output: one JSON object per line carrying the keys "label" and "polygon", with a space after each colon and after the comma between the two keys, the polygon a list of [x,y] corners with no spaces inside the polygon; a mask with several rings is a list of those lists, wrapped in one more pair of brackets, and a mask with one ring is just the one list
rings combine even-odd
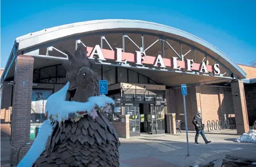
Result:
{"label": "long strip of snow on the sculpture's sloping tail", "polygon": [[26,153],[26,156],[22,158],[21,162],[18,164],[18,167],[28,167],[33,165],[40,154],[45,150],[47,139],[52,134],[52,131],[53,126],[51,125],[51,121],[44,121],[37,138],[34,140],[29,152]]}

